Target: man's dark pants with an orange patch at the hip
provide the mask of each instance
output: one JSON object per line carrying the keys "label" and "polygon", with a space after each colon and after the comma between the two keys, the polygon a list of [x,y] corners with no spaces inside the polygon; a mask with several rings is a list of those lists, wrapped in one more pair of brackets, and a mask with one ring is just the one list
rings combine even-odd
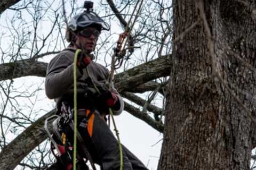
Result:
{"label": "man's dark pants with an orange patch at the hip", "polygon": [[[90,117],[89,126],[87,131],[81,127],[78,128],[78,131],[84,138],[85,145],[89,149],[94,162],[99,164],[102,170],[119,170],[118,141],[110,131],[106,121],[98,112],[95,112]],[[122,146],[122,150],[124,170],[148,170],[127,148]]]}

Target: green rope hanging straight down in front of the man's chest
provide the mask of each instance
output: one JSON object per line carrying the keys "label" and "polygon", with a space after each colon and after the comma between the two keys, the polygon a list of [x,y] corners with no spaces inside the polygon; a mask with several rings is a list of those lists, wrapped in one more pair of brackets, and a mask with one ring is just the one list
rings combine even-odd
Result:
{"label": "green rope hanging straight down in front of the man's chest", "polygon": [[77,150],[77,87],[76,87],[76,63],[77,56],[81,52],[81,49],[77,49],[74,57],[74,152],[73,152],[73,170],[76,170],[76,150]]}

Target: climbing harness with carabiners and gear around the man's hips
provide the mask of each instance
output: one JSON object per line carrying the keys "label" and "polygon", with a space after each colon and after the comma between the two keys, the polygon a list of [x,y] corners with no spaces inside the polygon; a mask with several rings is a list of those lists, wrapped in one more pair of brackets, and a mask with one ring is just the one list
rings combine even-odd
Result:
{"label": "climbing harness with carabiners and gear around the man's hips", "polygon": [[[82,128],[87,128],[88,120],[90,119],[93,111],[87,110],[87,115],[84,113],[81,116],[85,115],[79,126]],[[77,139],[79,142],[79,146],[81,146],[83,152],[77,153],[76,163],[72,163],[74,155],[73,150],[74,147],[71,145],[71,141],[69,139],[69,134],[74,132],[74,109],[67,106],[64,102],[62,102],[61,111],[58,115],[53,115],[45,120],[44,128],[45,131],[51,141],[51,151],[54,157],[57,159],[57,163],[61,169],[70,170],[72,167],[76,167],[78,165],[78,169],[89,169],[86,165],[87,160],[89,160],[93,170],[96,170],[93,159],[89,154],[89,151],[84,145],[84,140],[79,132],[77,132]],[[53,120],[51,123],[52,131],[49,130],[49,122]],[[55,154],[54,150],[57,152]],[[86,159],[86,162],[84,161]]]}

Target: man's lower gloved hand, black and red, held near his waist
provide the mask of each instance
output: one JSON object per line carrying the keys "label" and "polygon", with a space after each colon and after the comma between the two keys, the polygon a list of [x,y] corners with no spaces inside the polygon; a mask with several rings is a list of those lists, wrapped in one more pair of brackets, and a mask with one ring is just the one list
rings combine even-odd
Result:
{"label": "man's lower gloved hand, black and red, held near his waist", "polygon": [[109,107],[118,109],[117,105],[118,97],[114,92],[106,90],[98,96],[98,104],[101,110],[106,111]]}

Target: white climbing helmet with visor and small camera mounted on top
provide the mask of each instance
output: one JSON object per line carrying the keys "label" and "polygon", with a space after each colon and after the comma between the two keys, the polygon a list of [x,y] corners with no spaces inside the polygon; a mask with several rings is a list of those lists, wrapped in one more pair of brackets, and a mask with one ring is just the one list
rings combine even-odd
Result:
{"label": "white climbing helmet with visor and small camera mounted on top", "polygon": [[86,11],[75,15],[68,22],[67,31],[66,31],[66,39],[68,42],[72,39],[72,34],[76,32],[78,29],[88,27],[90,25],[94,25],[97,27],[99,31],[101,30],[109,30],[109,25],[103,21],[100,16],[98,16],[95,12],[93,12],[93,2],[85,1],[84,7]]}

